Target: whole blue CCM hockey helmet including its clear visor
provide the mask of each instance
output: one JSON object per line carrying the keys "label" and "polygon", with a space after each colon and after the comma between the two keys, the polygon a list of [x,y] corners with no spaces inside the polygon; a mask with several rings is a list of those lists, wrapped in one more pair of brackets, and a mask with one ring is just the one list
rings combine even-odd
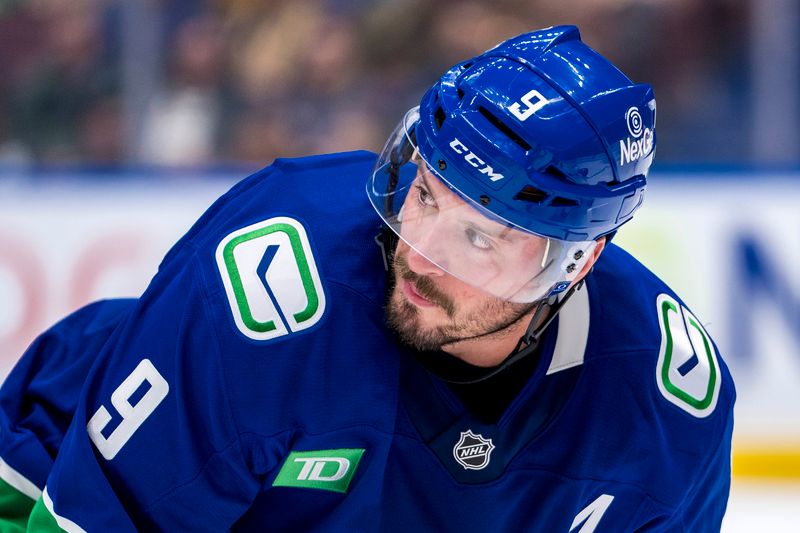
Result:
{"label": "whole blue CCM hockey helmet including its clear visor", "polygon": [[[594,242],[641,205],[655,118],[652,88],[576,27],[526,33],[439,79],[389,138],[368,193],[443,270],[535,301],[566,288]],[[531,253],[504,249],[508,237]]]}

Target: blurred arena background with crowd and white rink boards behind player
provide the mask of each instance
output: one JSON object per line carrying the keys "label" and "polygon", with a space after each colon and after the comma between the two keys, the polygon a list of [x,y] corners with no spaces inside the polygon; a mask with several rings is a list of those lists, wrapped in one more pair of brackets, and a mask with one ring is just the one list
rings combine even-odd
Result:
{"label": "blurred arena background with crowd and white rink boards behind player", "polygon": [[655,87],[656,166],[618,242],[737,380],[723,531],[796,530],[795,0],[0,0],[0,377],[60,316],[141,292],[237,179],[379,150],[451,64],[563,23]]}

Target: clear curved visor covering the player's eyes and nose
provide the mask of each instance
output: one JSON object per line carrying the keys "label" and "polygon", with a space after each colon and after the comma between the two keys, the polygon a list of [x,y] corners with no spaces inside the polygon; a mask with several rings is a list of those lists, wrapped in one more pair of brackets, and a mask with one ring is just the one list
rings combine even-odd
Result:
{"label": "clear curved visor covering the player's eyes and nose", "polygon": [[406,113],[367,185],[386,224],[437,268],[503,300],[534,302],[566,289],[594,241],[536,235],[461,195],[421,156],[418,121],[418,108]]}

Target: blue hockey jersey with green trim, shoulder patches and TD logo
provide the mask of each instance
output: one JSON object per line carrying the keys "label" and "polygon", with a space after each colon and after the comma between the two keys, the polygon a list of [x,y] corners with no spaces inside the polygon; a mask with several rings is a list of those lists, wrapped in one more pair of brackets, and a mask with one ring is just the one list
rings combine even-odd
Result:
{"label": "blue hockey jersey with green trim, shoulder patches and TD logo", "polygon": [[718,530],[735,392],[700,320],[610,245],[482,422],[384,323],[373,162],[276,161],[138,300],[44,333],[0,391],[4,525]]}

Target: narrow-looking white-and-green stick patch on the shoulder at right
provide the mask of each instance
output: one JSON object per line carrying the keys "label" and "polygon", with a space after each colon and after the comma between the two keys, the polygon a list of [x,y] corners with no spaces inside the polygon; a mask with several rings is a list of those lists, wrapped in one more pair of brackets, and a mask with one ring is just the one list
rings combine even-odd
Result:
{"label": "narrow-looking white-and-green stick patch on the shoulder at right", "polygon": [[661,328],[658,390],[687,413],[704,418],[717,405],[722,381],[711,338],[697,318],[671,296],[660,294],[656,309]]}

